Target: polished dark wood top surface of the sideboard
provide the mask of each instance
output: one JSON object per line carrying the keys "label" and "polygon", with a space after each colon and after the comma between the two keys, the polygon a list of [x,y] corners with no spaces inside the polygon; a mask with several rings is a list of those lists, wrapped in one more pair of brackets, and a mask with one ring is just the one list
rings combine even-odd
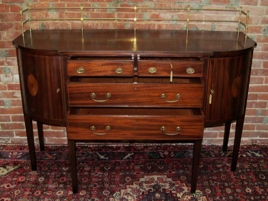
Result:
{"label": "polished dark wood top surface of the sideboard", "polygon": [[245,35],[229,31],[28,30],[13,44],[37,52],[66,55],[222,55],[253,48]]}

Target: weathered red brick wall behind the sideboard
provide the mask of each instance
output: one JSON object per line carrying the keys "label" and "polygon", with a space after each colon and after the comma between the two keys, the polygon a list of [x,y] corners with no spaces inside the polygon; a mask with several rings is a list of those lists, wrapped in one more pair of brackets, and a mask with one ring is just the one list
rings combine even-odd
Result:
{"label": "weathered red brick wall behind the sideboard", "polygon": [[[0,0],[1,1],[1,0]],[[266,0],[154,0],[154,1],[111,1],[98,0],[94,3],[87,0],[42,0],[42,1],[24,1],[24,0],[2,0],[0,4],[0,142],[26,144],[26,133],[22,114],[21,93],[19,84],[19,75],[17,69],[17,59],[15,48],[12,46],[12,40],[21,34],[19,9],[26,8],[27,4],[31,7],[79,7],[80,2],[84,6],[128,6],[134,2],[138,5],[148,7],[182,7],[187,8],[191,4],[193,8],[239,8],[250,11],[248,35],[257,42],[254,50],[252,73],[250,79],[249,95],[247,102],[246,117],[242,135],[242,143],[268,143],[268,1]],[[103,11],[101,11],[101,14]],[[75,16],[74,13],[60,14],[58,12],[36,14]],[[88,14],[90,15],[90,14]],[[98,13],[96,14],[98,15]],[[100,14],[99,14],[100,15]],[[115,15],[110,11],[110,16]],[[125,13],[124,15],[128,15]],[[143,14],[146,15],[146,14]],[[168,15],[168,14],[161,14]],[[162,18],[159,14],[154,14],[155,18]],[[212,17],[217,19],[234,18],[233,14],[213,13],[213,16],[202,15],[202,18]],[[174,18],[174,16],[165,16]],[[200,17],[200,16],[199,16]],[[49,22],[33,23],[34,29],[79,29],[79,22]],[[84,28],[132,28],[131,24],[109,22],[94,22],[86,24]],[[178,25],[174,23],[140,23],[140,28],[147,29],[185,29],[185,24]],[[234,27],[227,24],[191,24],[191,29],[207,30],[233,30]],[[35,135],[37,136],[36,124],[34,124]],[[232,125],[230,133],[230,143],[232,144],[234,136],[235,123]],[[208,128],[204,133],[204,144],[221,144],[223,139],[224,127]],[[65,128],[44,126],[45,142],[49,144],[66,143]],[[57,136],[55,138],[55,136]],[[38,138],[36,138],[38,142]]]}

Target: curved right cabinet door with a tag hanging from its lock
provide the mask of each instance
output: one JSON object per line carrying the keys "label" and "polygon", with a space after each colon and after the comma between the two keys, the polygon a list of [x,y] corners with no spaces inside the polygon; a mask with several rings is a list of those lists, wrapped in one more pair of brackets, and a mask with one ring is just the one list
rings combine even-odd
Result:
{"label": "curved right cabinet door with a tag hanging from its lock", "polygon": [[252,51],[209,61],[206,125],[232,122],[245,110]]}

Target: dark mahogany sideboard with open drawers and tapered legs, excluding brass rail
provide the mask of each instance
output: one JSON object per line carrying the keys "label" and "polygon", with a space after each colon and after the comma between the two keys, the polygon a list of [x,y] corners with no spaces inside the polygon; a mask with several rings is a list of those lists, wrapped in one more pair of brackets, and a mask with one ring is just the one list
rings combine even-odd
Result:
{"label": "dark mahogany sideboard with open drawers and tapered legs, excluding brass rail", "polygon": [[256,43],[242,32],[27,30],[16,46],[31,166],[43,124],[67,127],[73,192],[75,142],[193,142],[195,192],[204,127],[236,121],[236,169]]}

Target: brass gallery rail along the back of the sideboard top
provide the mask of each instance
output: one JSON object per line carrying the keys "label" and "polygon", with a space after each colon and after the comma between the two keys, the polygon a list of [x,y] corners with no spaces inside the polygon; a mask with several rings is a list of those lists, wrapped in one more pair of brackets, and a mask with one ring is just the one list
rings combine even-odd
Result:
{"label": "brass gallery rail along the back of the sideboard top", "polygon": [[[20,16],[21,16],[21,27],[22,27],[22,34],[24,35],[24,25],[26,23],[29,23],[29,30],[31,31],[31,21],[49,21],[49,20],[77,20],[81,21],[81,30],[83,30],[83,21],[86,20],[121,20],[121,21],[132,21],[134,22],[134,30],[136,30],[136,22],[137,21],[182,21],[186,22],[186,31],[189,31],[189,23],[190,22],[226,22],[226,23],[237,23],[238,24],[238,34],[240,32],[241,25],[245,27],[245,35],[247,36],[247,29],[248,29],[248,18],[249,18],[249,11],[244,12],[242,11],[242,7],[239,9],[194,9],[191,8],[190,5],[188,5],[187,8],[148,8],[148,7],[137,7],[136,4],[134,4],[134,7],[84,7],[83,4],[80,5],[80,7],[51,7],[51,8],[30,8],[29,4],[27,5],[27,9],[23,10],[20,9]],[[101,10],[101,9],[107,9],[107,10],[129,10],[133,11],[133,18],[86,18],[84,17],[84,10]],[[80,10],[80,18],[40,18],[40,19],[34,19],[31,16],[31,11],[37,11],[37,10]],[[137,11],[138,10],[154,10],[154,11],[161,11],[166,10],[169,12],[173,12],[176,14],[180,14],[180,12],[187,12],[187,18],[186,19],[152,19],[152,18],[137,18]],[[198,11],[206,11],[206,12],[234,12],[238,13],[238,20],[204,20],[204,19],[191,19],[191,11],[198,12]],[[26,15],[24,15],[26,14]],[[241,21],[242,15],[246,16],[245,22]]]}

